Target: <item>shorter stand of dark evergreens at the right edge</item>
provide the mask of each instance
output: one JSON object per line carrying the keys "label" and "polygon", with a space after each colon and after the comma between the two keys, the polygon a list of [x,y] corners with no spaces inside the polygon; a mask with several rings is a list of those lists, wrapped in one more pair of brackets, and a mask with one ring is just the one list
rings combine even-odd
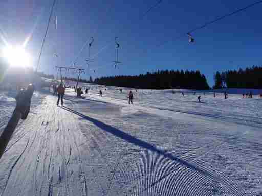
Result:
{"label": "shorter stand of dark evergreens at the right edge", "polygon": [[229,70],[214,74],[213,88],[262,88],[262,67],[247,67],[245,70]]}

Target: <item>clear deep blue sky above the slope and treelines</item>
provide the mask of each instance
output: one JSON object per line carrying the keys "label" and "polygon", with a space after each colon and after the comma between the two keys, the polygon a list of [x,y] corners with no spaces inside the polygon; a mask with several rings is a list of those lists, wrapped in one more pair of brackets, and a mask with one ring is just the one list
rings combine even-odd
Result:
{"label": "clear deep blue sky above the slope and treelines", "polygon": [[[158,69],[200,70],[213,85],[213,73],[261,65],[261,9],[258,4],[193,33],[188,43],[186,32],[216,17],[233,12],[253,1],[86,1],[58,0],[58,29],[50,23],[40,61],[40,71],[55,72],[54,66],[86,68],[88,47],[94,37],[91,57],[93,78],[106,75],[135,75]],[[0,27],[8,42],[23,44],[30,33],[27,51],[36,65],[53,0],[9,0],[1,2]],[[176,39],[181,34],[184,37]],[[114,39],[118,36],[117,69]],[[159,45],[160,46],[157,46]],[[87,45],[86,45],[87,46]],[[3,47],[3,42],[0,42]],[[58,58],[54,57],[58,54]],[[72,76],[67,74],[67,76]],[[82,78],[89,75],[82,75]]]}

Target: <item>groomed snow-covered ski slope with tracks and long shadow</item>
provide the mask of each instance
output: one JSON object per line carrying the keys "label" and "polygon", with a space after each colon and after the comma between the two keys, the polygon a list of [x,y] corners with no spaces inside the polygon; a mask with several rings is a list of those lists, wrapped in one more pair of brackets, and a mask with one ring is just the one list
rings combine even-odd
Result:
{"label": "groomed snow-covered ski slope with tracks and long shadow", "polygon": [[[133,89],[129,105],[129,89],[88,87],[67,89],[64,107],[34,93],[0,159],[0,195],[262,195],[262,99]],[[0,93],[0,129],[12,97]]]}

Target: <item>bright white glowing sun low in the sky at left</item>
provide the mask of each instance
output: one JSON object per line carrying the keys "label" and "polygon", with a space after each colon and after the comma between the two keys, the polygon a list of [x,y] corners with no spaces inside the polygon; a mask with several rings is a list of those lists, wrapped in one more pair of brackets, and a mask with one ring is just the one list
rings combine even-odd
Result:
{"label": "bright white glowing sun low in the sky at left", "polygon": [[31,67],[30,55],[23,47],[8,46],[3,49],[3,56],[12,67]]}

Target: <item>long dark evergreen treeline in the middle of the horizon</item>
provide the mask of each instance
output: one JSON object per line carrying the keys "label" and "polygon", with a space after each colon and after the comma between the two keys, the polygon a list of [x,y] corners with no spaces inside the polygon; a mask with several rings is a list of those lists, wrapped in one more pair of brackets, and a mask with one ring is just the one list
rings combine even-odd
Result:
{"label": "long dark evergreen treeline in the middle of the horizon", "polygon": [[200,71],[158,71],[137,76],[110,76],[96,78],[96,84],[141,89],[209,89],[206,77]]}

